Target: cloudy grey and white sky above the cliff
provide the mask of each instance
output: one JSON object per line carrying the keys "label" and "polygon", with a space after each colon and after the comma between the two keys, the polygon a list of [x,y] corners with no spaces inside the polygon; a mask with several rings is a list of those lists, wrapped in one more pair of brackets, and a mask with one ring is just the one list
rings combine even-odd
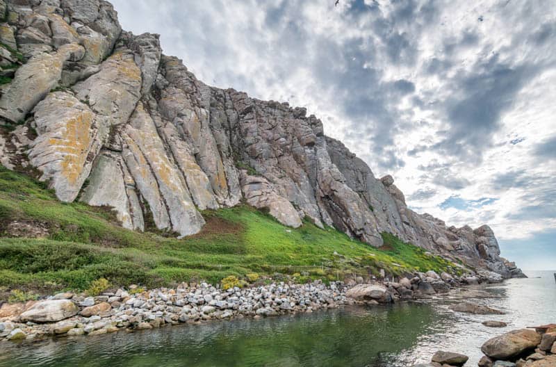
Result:
{"label": "cloudy grey and white sky above the cliff", "polygon": [[556,269],[556,1],[111,2],[205,83],[306,107],[411,209]]}

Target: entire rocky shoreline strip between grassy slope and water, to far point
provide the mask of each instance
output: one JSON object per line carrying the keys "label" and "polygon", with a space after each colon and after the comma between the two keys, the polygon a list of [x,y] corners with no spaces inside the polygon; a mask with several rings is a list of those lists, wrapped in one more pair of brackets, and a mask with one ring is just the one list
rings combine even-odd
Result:
{"label": "entire rocky shoreline strip between grassy slope and water, to far point", "polygon": [[[330,282],[268,285],[223,290],[211,284],[180,284],[176,288],[142,291],[131,286],[96,297],[58,293],[26,304],[0,308],[0,341],[38,341],[63,336],[93,336],[163,325],[205,323],[232,318],[261,318],[322,309],[428,299],[448,295],[466,285],[502,282],[478,273],[452,277],[434,271],[416,273],[398,282]],[[490,278],[488,277],[490,276]],[[6,316],[6,313],[12,312]],[[3,316],[3,317],[2,317]]]}

